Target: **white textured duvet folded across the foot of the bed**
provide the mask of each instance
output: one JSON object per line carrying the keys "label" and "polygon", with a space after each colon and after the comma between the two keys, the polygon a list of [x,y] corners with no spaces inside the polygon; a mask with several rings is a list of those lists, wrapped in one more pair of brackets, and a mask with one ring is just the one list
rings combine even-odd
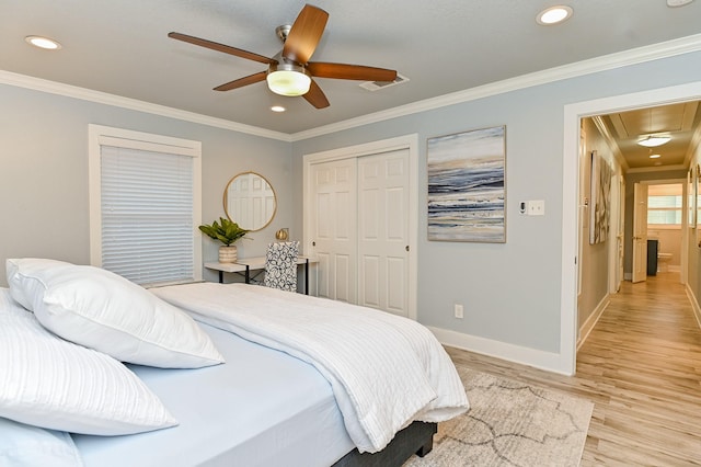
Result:
{"label": "white textured duvet folded across the foot of the bed", "polygon": [[440,422],[469,408],[450,357],[415,321],[246,284],[151,291],[198,321],[313,365],[331,384],[360,452],[381,451],[414,420]]}

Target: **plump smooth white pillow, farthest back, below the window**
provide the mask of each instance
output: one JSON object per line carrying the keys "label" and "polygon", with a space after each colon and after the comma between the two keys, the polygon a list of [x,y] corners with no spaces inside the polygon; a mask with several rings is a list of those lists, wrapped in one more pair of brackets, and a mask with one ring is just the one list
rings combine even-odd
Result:
{"label": "plump smooth white pillow, farthest back, below the window", "polygon": [[7,273],[12,297],[66,340],[162,368],[223,362],[188,315],[110,271],[28,258],[8,260]]}

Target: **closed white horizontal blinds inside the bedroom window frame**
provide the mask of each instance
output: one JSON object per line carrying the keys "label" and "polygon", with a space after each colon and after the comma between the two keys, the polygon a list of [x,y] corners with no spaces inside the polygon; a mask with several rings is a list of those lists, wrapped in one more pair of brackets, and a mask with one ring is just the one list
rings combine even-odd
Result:
{"label": "closed white horizontal blinds inside the bedroom window frame", "polygon": [[101,146],[102,266],[137,284],[192,281],[193,158]]}

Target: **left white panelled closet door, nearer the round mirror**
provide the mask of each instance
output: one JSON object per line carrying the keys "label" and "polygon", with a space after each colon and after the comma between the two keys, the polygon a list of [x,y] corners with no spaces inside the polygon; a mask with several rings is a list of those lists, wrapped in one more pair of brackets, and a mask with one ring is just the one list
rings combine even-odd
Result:
{"label": "left white panelled closet door, nearer the round mirror", "polygon": [[314,164],[312,249],[319,259],[318,294],[356,303],[357,297],[357,187],[356,161]]}

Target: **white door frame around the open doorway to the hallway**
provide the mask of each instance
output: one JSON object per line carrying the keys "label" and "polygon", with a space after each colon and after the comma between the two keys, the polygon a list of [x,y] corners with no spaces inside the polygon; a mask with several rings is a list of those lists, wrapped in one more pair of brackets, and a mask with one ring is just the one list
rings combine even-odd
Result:
{"label": "white door frame around the open doorway to the hallway", "polygon": [[701,81],[630,94],[584,101],[564,106],[562,164],[562,282],[560,292],[560,358],[558,371],[576,373],[577,239],[579,193],[579,121],[612,112],[701,100]]}

